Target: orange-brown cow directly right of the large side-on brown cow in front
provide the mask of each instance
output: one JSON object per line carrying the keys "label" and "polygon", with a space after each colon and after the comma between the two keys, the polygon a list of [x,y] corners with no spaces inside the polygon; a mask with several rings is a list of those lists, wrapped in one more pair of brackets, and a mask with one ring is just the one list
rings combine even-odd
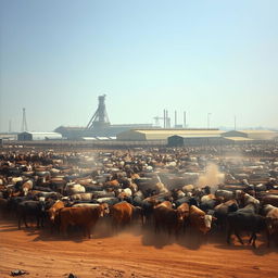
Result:
{"label": "orange-brown cow directly right of the large side-on brown cow in front", "polygon": [[114,204],[111,207],[112,224],[117,229],[119,225],[125,226],[131,223],[132,219],[141,218],[143,224],[142,210],[139,206],[134,206],[124,201]]}

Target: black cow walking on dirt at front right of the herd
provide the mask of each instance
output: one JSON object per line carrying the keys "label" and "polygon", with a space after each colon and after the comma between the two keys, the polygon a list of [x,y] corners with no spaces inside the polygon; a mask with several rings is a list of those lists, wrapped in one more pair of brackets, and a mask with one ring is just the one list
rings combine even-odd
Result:
{"label": "black cow walking on dirt at front right of the herd", "polygon": [[240,238],[241,231],[251,232],[249,243],[256,248],[256,232],[266,229],[266,218],[253,212],[237,211],[229,213],[227,217],[228,232],[227,232],[227,243],[230,244],[230,236],[232,232],[237,236],[241,244],[244,244]]}

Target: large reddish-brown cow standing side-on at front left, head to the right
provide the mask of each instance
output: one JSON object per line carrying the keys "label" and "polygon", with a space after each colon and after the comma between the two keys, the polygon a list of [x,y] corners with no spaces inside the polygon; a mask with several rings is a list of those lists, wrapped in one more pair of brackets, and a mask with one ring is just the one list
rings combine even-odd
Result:
{"label": "large reddish-brown cow standing side-on at front left, head to the right", "polygon": [[68,225],[84,227],[84,233],[91,237],[91,229],[100,217],[109,213],[106,203],[100,204],[98,207],[64,207],[60,211],[60,231],[66,235]]}

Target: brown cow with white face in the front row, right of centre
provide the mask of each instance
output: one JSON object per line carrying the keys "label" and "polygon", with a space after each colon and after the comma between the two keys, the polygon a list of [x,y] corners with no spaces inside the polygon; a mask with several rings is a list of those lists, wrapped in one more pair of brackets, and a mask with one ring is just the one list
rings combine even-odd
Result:
{"label": "brown cow with white face in the front row, right of centre", "polygon": [[211,230],[212,222],[216,218],[212,215],[205,214],[202,210],[195,205],[191,205],[189,208],[189,223],[195,229],[206,233]]}

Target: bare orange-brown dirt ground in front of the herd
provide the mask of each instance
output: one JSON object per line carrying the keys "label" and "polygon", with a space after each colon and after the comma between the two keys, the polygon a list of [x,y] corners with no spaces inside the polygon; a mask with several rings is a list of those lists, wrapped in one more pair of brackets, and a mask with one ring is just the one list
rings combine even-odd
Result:
{"label": "bare orange-brown dirt ground in front of the herd", "polygon": [[[245,238],[244,238],[245,239]],[[100,223],[92,239],[80,231],[68,238],[35,226],[17,229],[15,220],[0,220],[0,277],[278,277],[278,248],[267,248],[260,237],[257,249],[228,247],[225,235],[201,236],[188,230],[178,239],[151,229],[129,228],[112,233]]]}

